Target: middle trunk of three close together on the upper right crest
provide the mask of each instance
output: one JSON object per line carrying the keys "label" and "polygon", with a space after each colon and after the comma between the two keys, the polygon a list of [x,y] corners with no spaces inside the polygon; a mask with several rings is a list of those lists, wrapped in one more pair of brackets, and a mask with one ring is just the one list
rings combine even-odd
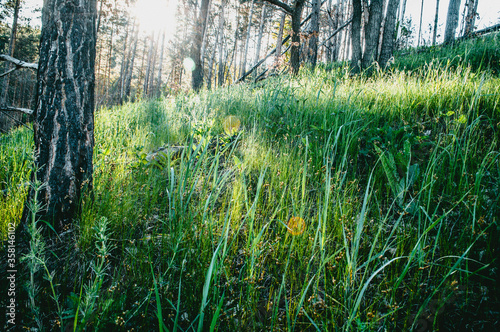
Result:
{"label": "middle trunk of three close together on the upper right crest", "polygon": [[378,42],[380,38],[380,25],[382,23],[383,0],[372,0],[370,4],[370,17],[365,33],[365,52],[363,54],[363,68],[368,68],[377,60]]}

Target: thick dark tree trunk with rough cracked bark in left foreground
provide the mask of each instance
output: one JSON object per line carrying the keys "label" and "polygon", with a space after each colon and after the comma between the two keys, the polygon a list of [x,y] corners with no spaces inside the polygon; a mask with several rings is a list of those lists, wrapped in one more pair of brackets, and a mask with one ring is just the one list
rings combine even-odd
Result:
{"label": "thick dark tree trunk with rough cracked bark in left foreground", "polygon": [[[92,186],[96,12],[96,0],[45,0],[43,6],[35,167],[45,183],[40,217],[57,232],[72,223],[82,192]],[[28,202],[33,198],[30,190]]]}

